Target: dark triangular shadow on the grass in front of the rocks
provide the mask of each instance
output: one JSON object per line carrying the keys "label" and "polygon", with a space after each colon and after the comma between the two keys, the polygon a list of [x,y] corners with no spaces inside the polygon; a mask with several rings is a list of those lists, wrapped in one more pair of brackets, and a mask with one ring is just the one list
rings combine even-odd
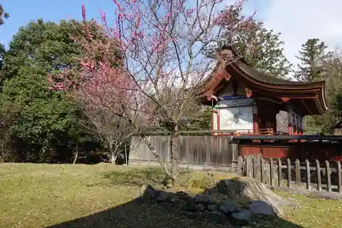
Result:
{"label": "dark triangular shadow on the grass in front of the rocks", "polygon": [[[124,179],[126,181],[126,179]],[[203,194],[211,194],[216,189],[213,188]],[[172,199],[179,199],[179,194],[171,194]],[[129,201],[109,210],[104,210],[96,214],[77,218],[57,225],[51,225],[49,228],[79,228],[79,227],[127,227],[127,228],[150,228],[150,227],[240,227],[230,223],[217,223],[217,221],[202,218],[201,216],[189,217],[181,214],[175,203],[143,203],[141,197]],[[70,208],[72,212],[73,208]],[[183,211],[182,211],[183,212]],[[300,228],[278,216],[252,216],[252,222],[248,227],[281,227],[281,228]],[[47,228],[47,227],[46,227]]]}

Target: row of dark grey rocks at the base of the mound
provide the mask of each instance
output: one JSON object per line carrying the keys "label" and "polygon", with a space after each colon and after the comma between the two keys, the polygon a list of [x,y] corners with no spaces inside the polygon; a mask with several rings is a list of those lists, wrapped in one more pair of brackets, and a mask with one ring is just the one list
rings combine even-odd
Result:
{"label": "row of dark grey rocks at the base of the mound", "polygon": [[242,207],[233,201],[217,202],[208,195],[190,196],[186,192],[170,193],[147,186],[142,194],[144,203],[166,204],[190,218],[205,219],[213,223],[248,225],[252,214],[276,215],[272,205],[265,201],[250,201]]}

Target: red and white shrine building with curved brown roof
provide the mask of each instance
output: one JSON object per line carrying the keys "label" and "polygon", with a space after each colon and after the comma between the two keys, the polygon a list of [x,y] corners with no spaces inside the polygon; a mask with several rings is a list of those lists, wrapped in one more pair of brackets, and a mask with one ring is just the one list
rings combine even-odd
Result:
{"label": "red and white shrine building with curved brown roof", "polygon": [[304,116],[326,112],[324,81],[279,79],[255,70],[228,47],[221,53],[236,60],[218,63],[205,80],[202,102],[213,107],[211,130],[302,135]]}

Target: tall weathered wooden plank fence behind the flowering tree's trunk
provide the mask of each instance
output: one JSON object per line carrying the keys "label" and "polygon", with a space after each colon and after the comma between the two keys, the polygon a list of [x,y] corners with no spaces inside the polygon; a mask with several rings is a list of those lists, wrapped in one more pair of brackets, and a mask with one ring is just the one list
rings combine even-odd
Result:
{"label": "tall weathered wooden plank fence behind the flowering tree's trunk", "polygon": [[[162,162],[171,162],[169,137],[148,136]],[[177,160],[179,164],[236,167],[239,151],[231,139],[231,136],[180,136],[175,142]],[[157,160],[144,142],[133,138],[129,161]]]}

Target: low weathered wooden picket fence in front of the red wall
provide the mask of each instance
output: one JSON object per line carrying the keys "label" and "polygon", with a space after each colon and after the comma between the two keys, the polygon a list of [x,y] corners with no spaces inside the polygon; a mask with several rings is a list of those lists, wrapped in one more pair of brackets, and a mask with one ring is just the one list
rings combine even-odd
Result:
{"label": "low weathered wooden picket fence in front of the red wall", "polygon": [[340,162],[291,162],[262,155],[238,157],[237,175],[259,179],[271,186],[342,193]]}

